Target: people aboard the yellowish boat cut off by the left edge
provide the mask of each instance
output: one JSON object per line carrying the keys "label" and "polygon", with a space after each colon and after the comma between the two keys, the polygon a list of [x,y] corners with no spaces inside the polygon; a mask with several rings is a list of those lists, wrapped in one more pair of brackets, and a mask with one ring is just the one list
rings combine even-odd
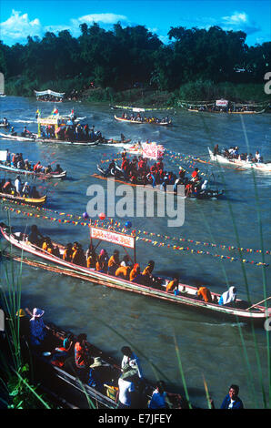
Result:
{"label": "people aboard the yellowish boat cut off by the left edge", "polygon": [[20,198],[40,198],[40,194],[36,187],[30,186],[27,181],[23,183],[20,176],[16,176],[14,183],[11,178],[7,178],[6,180],[3,178],[0,182],[0,193]]}

